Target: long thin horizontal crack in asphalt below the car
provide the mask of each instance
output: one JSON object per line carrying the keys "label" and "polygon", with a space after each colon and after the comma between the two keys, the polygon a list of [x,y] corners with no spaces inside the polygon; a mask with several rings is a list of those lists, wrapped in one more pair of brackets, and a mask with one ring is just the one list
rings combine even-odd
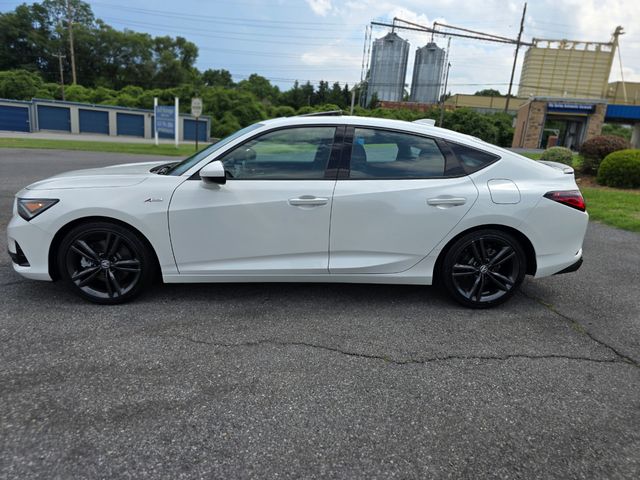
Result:
{"label": "long thin horizontal crack in asphalt below the car", "polygon": [[221,347],[221,348],[242,348],[242,347],[258,347],[261,345],[275,345],[275,346],[295,346],[295,347],[308,347],[319,350],[325,350],[328,352],[339,353],[341,355],[346,355],[348,357],[356,357],[356,358],[364,358],[367,360],[382,360],[387,363],[392,363],[394,365],[424,365],[427,363],[435,363],[435,362],[448,362],[451,360],[496,360],[496,361],[505,361],[514,358],[524,358],[528,360],[545,360],[545,359],[563,359],[563,360],[577,360],[583,362],[593,362],[593,363],[622,363],[627,364],[629,362],[620,360],[618,358],[614,359],[602,359],[602,358],[591,358],[591,357],[580,357],[580,356],[572,356],[572,355],[557,355],[557,354],[547,354],[547,355],[527,355],[527,354],[507,354],[507,355],[445,355],[445,356],[436,356],[436,357],[427,357],[427,358],[409,358],[406,360],[397,360],[386,355],[374,355],[369,353],[361,353],[361,352],[353,352],[348,350],[342,350],[337,347],[330,347],[327,345],[319,345],[308,342],[285,342],[282,340],[271,340],[271,339],[263,339],[263,340],[254,340],[249,342],[240,342],[240,343],[220,343],[220,342],[207,342],[204,340],[195,340],[191,337],[185,335],[163,335],[165,337],[178,338],[180,340],[185,340],[187,342],[196,343],[200,345],[208,345],[211,347]]}

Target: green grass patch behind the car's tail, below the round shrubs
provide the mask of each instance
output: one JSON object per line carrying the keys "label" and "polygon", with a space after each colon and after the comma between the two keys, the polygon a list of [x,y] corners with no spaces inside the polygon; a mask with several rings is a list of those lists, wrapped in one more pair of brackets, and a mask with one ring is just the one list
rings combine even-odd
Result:
{"label": "green grass patch behind the car's tail, below the round shrubs", "polygon": [[592,220],[632,232],[640,232],[640,191],[582,187]]}

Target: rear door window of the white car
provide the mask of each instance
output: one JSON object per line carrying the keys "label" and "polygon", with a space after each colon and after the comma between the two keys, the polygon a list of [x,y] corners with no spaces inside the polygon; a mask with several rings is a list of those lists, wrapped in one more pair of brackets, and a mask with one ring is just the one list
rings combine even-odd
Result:
{"label": "rear door window of the white car", "polygon": [[438,178],[446,159],[432,138],[356,128],[351,148],[352,179]]}

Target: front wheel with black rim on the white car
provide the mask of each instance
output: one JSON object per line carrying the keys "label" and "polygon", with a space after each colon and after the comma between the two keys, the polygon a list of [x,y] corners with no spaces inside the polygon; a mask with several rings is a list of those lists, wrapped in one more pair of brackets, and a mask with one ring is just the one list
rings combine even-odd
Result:
{"label": "front wheel with black rim on the white car", "polygon": [[77,295],[115,305],[138,296],[154,276],[152,252],[121,225],[90,222],[69,231],[58,248],[58,272]]}

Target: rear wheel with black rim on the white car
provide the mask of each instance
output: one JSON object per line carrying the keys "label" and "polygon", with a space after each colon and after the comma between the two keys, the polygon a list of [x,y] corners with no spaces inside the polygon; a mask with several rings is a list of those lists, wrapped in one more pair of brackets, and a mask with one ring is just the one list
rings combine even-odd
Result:
{"label": "rear wheel with black rim on the white car", "polygon": [[520,243],[500,230],[476,230],[456,240],[442,262],[442,283],[458,303],[489,308],[506,302],[526,272]]}

